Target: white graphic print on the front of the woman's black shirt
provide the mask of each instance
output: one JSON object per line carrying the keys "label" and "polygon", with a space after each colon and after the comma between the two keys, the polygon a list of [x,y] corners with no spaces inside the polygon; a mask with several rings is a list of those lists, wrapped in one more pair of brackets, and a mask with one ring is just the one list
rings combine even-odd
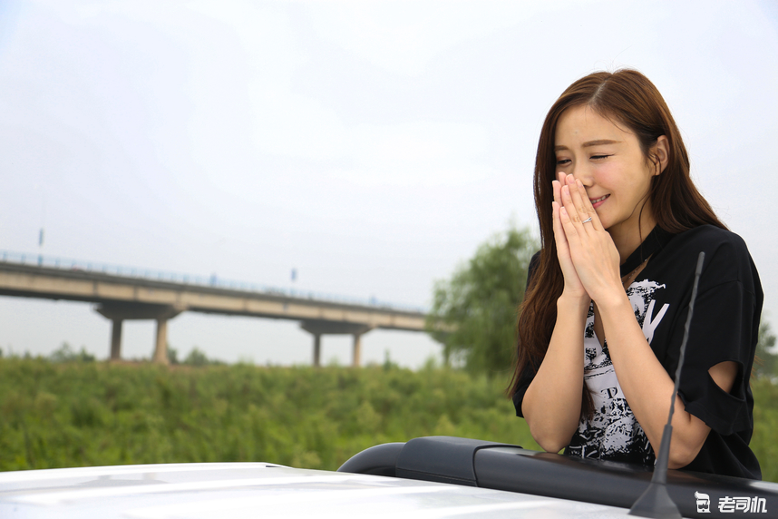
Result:
{"label": "white graphic print on the front of the woman's black shirt", "polygon": [[[632,283],[627,289],[627,298],[648,344],[669,308],[664,304],[655,314],[654,293],[664,288],[665,285],[645,279]],[[591,420],[581,419],[578,437],[573,438],[569,454],[652,464],[653,450],[618,384],[608,343],[603,340],[603,346],[600,346],[594,333],[593,306],[588,311],[584,349],[584,381],[594,403],[594,413]]]}

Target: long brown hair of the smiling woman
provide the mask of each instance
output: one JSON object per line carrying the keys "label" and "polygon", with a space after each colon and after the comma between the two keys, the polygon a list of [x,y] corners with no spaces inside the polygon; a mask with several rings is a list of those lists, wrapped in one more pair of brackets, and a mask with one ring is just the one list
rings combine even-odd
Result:
{"label": "long brown hair of the smiling woman", "polygon": [[[542,249],[519,308],[511,396],[519,388],[520,376],[526,369],[537,372],[557,321],[557,299],[562,294],[564,279],[559,268],[551,214],[551,181],[556,178],[554,135],[560,115],[572,106],[581,105],[633,132],[649,162],[658,164],[650,150],[660,136],[666,135],[669,145],[667,165],[662,174],[652,177],[648,193],[653,216],[661,229],[678,233],[706,223],[726,229],[695,188],[689,176],[689,157],[681,133],[662,95],[645,75],[622,69],[615,73],[591,73],[572,83],[551,106],[540,131],[534,191]],[[591,397],[586,386],[581,412],[583,415],[591,412]]]}

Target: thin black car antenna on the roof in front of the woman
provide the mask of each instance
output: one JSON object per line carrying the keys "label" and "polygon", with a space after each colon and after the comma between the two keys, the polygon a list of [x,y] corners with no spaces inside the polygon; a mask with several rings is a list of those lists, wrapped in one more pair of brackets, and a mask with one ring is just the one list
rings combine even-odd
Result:
{"label": "thin black car antenna on the roof in front of the woman", "polygon": [[681,519],[681,513],[673,502],[673,499],[667,494],[667,462],[670,457],[670,436],[673,436],[673,412],[676,410],[676,396],[678,395],[678,386],[681,382],[681,367],[684,366],[684,357],[686,355],[686,341],[689,338],[689,326],[692,324],[692,314],[695,310],[695,299],[697,298],[697,284],[700,280],[700,274],[703,271],[703,260],[705,252],[700,252],[697,257],[697,268],[695,270],[695,284],[692,288],[692,300],[689,302],[689,312],[686,315],[686,326],[684,327],[684,340],[681,341],[681,354],[678,357],[678,367],[676,367],[676,384],[673,387],[673,400],[670,402],[670,416],[667,417],[665,430],[662,431],[662,444],[659,446],[659,457],[654,465],[654,475],[651,476],[651,483],[646,492],[637,498],[635,504],[629,509],[630,515],[639,515],[641,517],[656,517],[658,519]]}

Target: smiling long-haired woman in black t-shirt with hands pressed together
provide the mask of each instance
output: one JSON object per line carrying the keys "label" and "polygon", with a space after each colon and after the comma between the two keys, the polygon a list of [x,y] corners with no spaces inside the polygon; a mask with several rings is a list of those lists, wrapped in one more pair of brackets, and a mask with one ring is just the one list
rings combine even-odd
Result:
{"label": "smiling long-haired woman in black t-shirt with hands pressed together", "polygon": [[762,288],[692,183],[654,84],[621,70],[570,85],[543,124],[534,189],[543,248],[511,393],[538,444],[654,464],[702,250],[669,466],[761,479],[748,378]]}

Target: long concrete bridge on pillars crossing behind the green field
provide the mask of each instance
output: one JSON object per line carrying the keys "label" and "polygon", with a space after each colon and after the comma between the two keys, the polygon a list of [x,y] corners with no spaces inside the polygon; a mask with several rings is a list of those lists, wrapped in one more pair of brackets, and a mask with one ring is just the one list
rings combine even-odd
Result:
{"label": "long concrete bridge on pillars crossing behind the green field", "polygon": [[215,276],[202,279],[92,267],[38,255],[16,254],[12,260],[8,256],[7,252],[0,255],[0,296],[96,303],[94,309],[112,320],[112,360],[122,357],[124,320],[154,319],[157,334],[152,360],[167,363],[168,320],[185,311],[300,321],[300,328],[313,335],[315,366],[320,365],[321,336],[325,334],[352,335],[353,365],[359,366],[361,338],[371,329],[424,330],[426,316],[419,309],[341,302],[315,294],[232,283]]}

